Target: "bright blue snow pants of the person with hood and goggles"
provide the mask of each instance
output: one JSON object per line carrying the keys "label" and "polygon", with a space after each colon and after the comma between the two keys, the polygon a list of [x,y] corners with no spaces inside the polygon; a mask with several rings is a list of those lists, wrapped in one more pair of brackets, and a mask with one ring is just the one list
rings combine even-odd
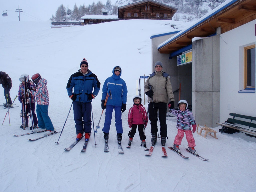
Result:
{"label": "bright blue snow pants of the person with hood and goggles", "polygon": [[113,105],[106,105],[105,122],[104,122],[104,127],[102,131],[105,133],[109,133],[113,109],[115,109],[116,133],[117,134],[123,133],[121,106],[113,106]]}

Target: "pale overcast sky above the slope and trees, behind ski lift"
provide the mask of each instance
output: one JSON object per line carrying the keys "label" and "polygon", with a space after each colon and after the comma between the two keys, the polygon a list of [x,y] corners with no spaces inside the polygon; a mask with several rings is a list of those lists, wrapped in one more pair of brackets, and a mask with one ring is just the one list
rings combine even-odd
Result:
{"label": "pale overcast sky above the slope and trees, behind ski lift", "polygon": [[[73,9],[74,4],[76,3],[79,7],[80,5],[88,6],[90,4],[98,2],[98,0],[45,0],[45,1],[35,1],[35,0],[1,0],[0,1],[0,10],[3,13],[3,10],[7,10],[7,17],[0,17],[0,21],[18,21],[18,13],[15,12],[18,9],[22,9],[23,13],[20,13],[20,21],[47,21],[51,18],[52,14],[55,15],[57,8],[63,4],[65,7],[69,6]],[[106,0],[101,1],[103,4],[106,3]],[[111,1],[112,4],[115,3]],[[6,12],[6,11],[4,11]]]}

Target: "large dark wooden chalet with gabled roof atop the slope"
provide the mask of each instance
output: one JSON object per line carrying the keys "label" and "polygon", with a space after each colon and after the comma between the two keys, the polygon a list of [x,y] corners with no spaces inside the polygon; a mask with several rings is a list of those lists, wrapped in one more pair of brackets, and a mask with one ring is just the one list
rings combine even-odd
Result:
{"label": "large dark wooden chalet with gabled roof atop the slope", "polygon": [[119,19],[172,20],[178,8],[153,0],[142,0],[118,7]]}

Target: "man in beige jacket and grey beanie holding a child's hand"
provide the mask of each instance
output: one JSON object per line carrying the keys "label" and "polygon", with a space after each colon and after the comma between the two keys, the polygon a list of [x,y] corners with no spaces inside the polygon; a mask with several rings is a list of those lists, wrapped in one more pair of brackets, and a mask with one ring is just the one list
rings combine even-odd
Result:
{"label": "man in beige jacket and grey beanie holding a child's hand", "polygon": [[[161,144],[165,146],[167,137],[167,125],[166,125],[166,112],[167,103],[170,104],[170,108],[174,108],[174,96],[173,88],[169,74],[162,71],[163,64],[160,61],[155,63],[155,72],[150,74],[150,77],[145,82],[144,91],[148,96],[148,113],[151,125],[151,143],[155,145],[157,139],[157,110],[159,113],[160,121],[160,135]],[[168,138],[168,137],[167,137]]]}

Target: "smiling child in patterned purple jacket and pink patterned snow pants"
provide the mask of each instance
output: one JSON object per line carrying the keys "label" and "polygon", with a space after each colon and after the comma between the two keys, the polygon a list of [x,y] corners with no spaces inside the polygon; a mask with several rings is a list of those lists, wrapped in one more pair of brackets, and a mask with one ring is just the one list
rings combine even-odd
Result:
{"label": "smiling child in patterned purple jacket and pink patterned snow pants", "polygon": [[186,133],[186,139],[188,142],[187,150],[197,154],[194,148],[196,146],[195,139],[191,131],[191,126],[193,128],[193,133],[196,131],[196,122],[194,120],[194,116],[192,112],[187,109],[188,103],[186,100],[180,100],[178,102],[178,108],[178,110],[170,109],[170,112],[177,116],[176,128],[178,128],[178,133],[174,139],[172,148],[180,153],[179,145],[181,144],[181,141],[184,137],[184,133]]}

